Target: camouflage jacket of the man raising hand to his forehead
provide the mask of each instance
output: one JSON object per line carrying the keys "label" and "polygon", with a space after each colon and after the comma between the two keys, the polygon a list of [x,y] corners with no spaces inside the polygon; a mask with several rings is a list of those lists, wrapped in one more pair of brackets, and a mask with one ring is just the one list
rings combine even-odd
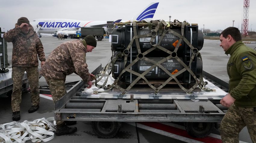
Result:
{"label": "camouflage jacket of the man raising hand to his forehead", "polygon": [[24,35],[20,28],[15,28],[4,34],[7,42],[12,42],[12,67],[38,66],[38,58],[45,61],[45,53],[41,40],[38,38],[33,26],[30,25],[29,33]]}

